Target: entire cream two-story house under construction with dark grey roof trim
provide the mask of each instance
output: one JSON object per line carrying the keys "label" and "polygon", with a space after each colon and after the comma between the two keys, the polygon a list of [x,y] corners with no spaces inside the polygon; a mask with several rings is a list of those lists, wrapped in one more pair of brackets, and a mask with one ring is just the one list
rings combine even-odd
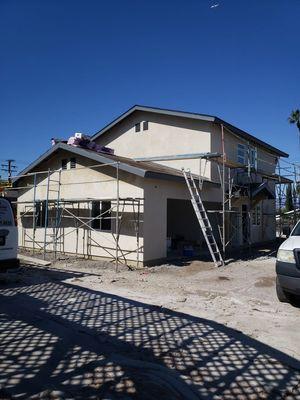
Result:
{"label": "entire cream two-story house under construction with dark grey roof trim", "polygon": [[[201,196],[219,236],[222,157],[214,161],[200,156],[165,159],[196,153],[226,154],[226,180],[232,182],[225,185],[230,244],[275,239],[275,168],[279,157],[288,157],[283,151],[217,117],[143,106],[131,108],[92,139],[113,148],[115,155],[59,143],[23,171],[30,176],[15,182],[22,187],[18,199],[20,246],[32,248],[35,242],[35,248],[42,249],[45,242],[47,250],[112,257],[117,240],[118,257],[143,264],[165,258],[168,248],[172,253],[170,247],[173,254],[181,254],[187,244],[205,251],[181,168],[203,178]],[[49,169],[56,172],[50,173],[48,180]],[[46,172],[38,173],[41,171]],[[58,181],[59,207],[55,203]],[[47,193],[52,201],[50,232],[43,226]],[[99,213],[103,213],[100,220],[96,218]],[[58,238],[56,246],[53,237]]]}

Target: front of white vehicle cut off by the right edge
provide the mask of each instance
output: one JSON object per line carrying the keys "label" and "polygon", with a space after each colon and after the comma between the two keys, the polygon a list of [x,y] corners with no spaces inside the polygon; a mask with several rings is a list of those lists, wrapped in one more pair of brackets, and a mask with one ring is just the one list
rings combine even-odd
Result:
{"label": "front of white vehicle cut off by the right edge", "polygon": [[278,300],[289,303],[300,299],[300,221],[278,249],[276,274]]}

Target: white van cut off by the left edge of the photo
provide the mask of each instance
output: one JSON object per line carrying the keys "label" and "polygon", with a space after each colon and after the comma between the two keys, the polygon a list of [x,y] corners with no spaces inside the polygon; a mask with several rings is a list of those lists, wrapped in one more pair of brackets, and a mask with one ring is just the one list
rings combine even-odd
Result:
{"label": "white van cut off by the left edge of the photo", "polygon": [[18,265],[18,228],[10,202],[0,197],[0,265]]}

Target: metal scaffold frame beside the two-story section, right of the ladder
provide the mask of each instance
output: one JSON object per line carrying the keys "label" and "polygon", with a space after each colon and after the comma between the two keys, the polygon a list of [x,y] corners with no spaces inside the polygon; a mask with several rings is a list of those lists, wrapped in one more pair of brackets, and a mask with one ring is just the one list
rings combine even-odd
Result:
{"label": "metal scaffold frame beside the two-story section, right of the ladder", "polygon": [[[267,174],[265,171],[259,171],[251,165],[250,149],[253,148],[253,145],[249,141],[242,141],[242,143],[247,147],[246,165],[242,165],[238,162],[229,161],[227,159],[226,149],[225,149],[225,135],[224,135],[225,130],[236,136],[236,134],[232,132],[230,129],[228,129],[228,127],[225,128],[221,124],[221,151],[222,151],[221,153],[207,152],[207,153],[195,153],[195,154],[179,154],[173,156],[168,155],[168,156],[158,156],[158,157],[146,157],[146,158],[136,159],[139,161],[147,161],[147,162],[171,161],[171,160],[178,161],[187,159],[199,160],[199,175],[196,178],[198,179],[200,193],[201,190],[203,189],[203,183],[205,182],[205,172],[208,162],[212,162],[217,165],[219,183],[222,189],[222,201],[221,201],[222,209],[207,210],[207,213],[221,214],[222,217],[221,223],[217,220],[217,227],[218,227],[220,242],[222,245],[222,254],[224,261],[226,258],[226,249],[230,244],[232,244],[233,238],[236,235],[236,231],[239,231],[241,229],[242,241],[249,248],[251,248],[252,246],[251,235],[250,235],[251,216],[252,216],[252,205],[251,205],[252,199],[251,199],[250,187],[253,183],[255,183],[253,177],[255,175],[261,175],[263,181],[273,181],[276,187],[281,186],[282,181],[284,181],[284,184],[286,184],[287,182],[287,177],[281,176],[280,171],[279,172],[276,171],[277,173]],[[241,141],[240,138],[239,141]],[[273,169],[275,166],[274,163],[268,162],[265,159],[263,160],[258,158],[256,154],[255,164],[257,165],[258,162],[264,163],[265,165],[270,167],[270,169]],[[277,159],[277,167],[278,165],[279,165],[279,159]],[[187,169],[185,172],[190,173],[190,170]],[[241,177],[243,177],[243,183],[239,183],[239,181],[241,181]],[[278,191],[275,192],[277,193]],[[234,209],[235,207],[233,200],[236,198],[237,193],[242,193],[242,196],[248,199],[249,208],[246,211],[240,212]],[[275,217],[275,214],[272,215]],[[234,226],[232,222],[233,216],[238,221],[237,226]],[[270,216],[270,214],[263,213],[262,216]],[[244,224],[246,226],[246,229],[244,229],[243,226]]]}

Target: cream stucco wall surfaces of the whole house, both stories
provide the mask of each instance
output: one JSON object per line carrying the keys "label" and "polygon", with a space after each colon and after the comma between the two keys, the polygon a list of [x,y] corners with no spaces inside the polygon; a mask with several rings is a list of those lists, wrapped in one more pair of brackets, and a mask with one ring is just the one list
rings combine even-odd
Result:
{"label": "cream stucco wall surfaces of the whole house, both stories", "polygon": [[[135,124],[148,121],[148,130],[135,132]],[[225,152],[228,161],[237,162],[238,143],[247,144],[247,141],[232,134],[226,128],[225,134]],[[130,114],[126,119],[113,126],[97,140],[100,145],[112,147],[115,154],[129,158],[154,157],[162,155],[176,155],[185,153],[204,153],[220,152],[222,153],[222,140],[220,125],[200,120],[192,120],[170,115],[159,115],[136,111]],[[255,146],[258,152],[258,169],[266,174],[275,172],[276,156],[261,146]],[[61,167],[61,159],[73,157],[71,153],[60,150],[54,154],[52,159],[41,163],[36,170],[46,171],[55,170]],[[87,158],[76,156],[77,168],[73,170],[63,170],[61,175],[61,198],[70,199],[115,199],[116,169],[110,166],[99,168],[87,168],[95,165],[94,161]],[[198,174],[199,160],[172,160],[159,162],[173,168],[189,168],[192,172]],[[206,168],[204,170],[204,164]],[[86,168],[81,168],[86,167]],[[57,179],[57,173],[52,176]],[[219,181],[219,172],[216,163],[205,162],[202,160],[201,175],[214,181]],[[262,181],[262,176],[256,174],[256,182]],[[119,192],[121,198],[136,197],[143,198],[144,204],[141,210],[140,226],[140,246],[141,252],[139,259],[143,262],[162,259],[167,255],[167,202],[168,199],[190,200],[188,189],[184,182],[174,182],[159,179],[141,178],[128,172],[119,173]],[[30,184],[33,178],[27,178],[19,181],[18,185]],[[46,198],[46,175],[38,178],[38,187],[36,198],[45,200]],[[54,184],[55,186],[55,184]],[[272,185],[271,185],[272,186]],[[274,185],[273,185],[274,186]],[[272,187],[274,189],[274,187]],[[50,198],[55,198],[56,192],[50,193]],[[31,201],[33,198],[33,189],[25,189],[19,195],[19,201]],[[222,191],[220,187],[215,187],[204,183],[202,190],[202,199],[207,203],[214,203],[220,208],[222,202]],[[241,207],[243,202],[250,206],[249,199],[240,199],[234,205],[237,213],[237,220],[241,220]],[[24,211],[25,205],[19,206],[20,213]],[[86,217],[90,214],[88,205],[82,204]],[[120,247],[127,253],[127,259],[135,261],[137,246],[136,235],[132,223],[132,209],[124,209],[125,217],[122,221],[122,230],[120,233]],[[115,215],[113,214],[113,217]],[[229,218],[229,217],[228,217]],[[231,217],[232,218],[232,217]],[[32,221],[32,220],[31,220]],[[275,201],[265,200],[262,202],[261,225],[251,225],[252,243],[275,238]],[[183,227],[183,231],[186,227]],[[32,236],[32,229],[26,226],[22,221],[19,230],[20,245],[27,246],[25,243],[25,234]],[[115,219],[112,220],[112,232],[115,232]],[[90,232],[83,227],[79,228],[78,234],[74,233],[74,226],[70,222],[64,221],[62,232],[64,236],[61,250],[65,252],[75,252],[77,248],[79,254],[91,254],[94,256],[105,257],[108,252],[115,252],[114,239],[111,232]],[[230,232],[227,232],[230,235]],[[88,235],[90,237],[88,238]],[[189,235],[186,235],[189,237]],[[194,236],[194,235],[193,235]],[[242,229],[235,233],[235,244],[243,244]],[[38,228],[36,237],[40,243],[44,240],[44,229]],[[90,246],[88,243],[95,246]],[[98,245],[97,245],[98,243]]]}

